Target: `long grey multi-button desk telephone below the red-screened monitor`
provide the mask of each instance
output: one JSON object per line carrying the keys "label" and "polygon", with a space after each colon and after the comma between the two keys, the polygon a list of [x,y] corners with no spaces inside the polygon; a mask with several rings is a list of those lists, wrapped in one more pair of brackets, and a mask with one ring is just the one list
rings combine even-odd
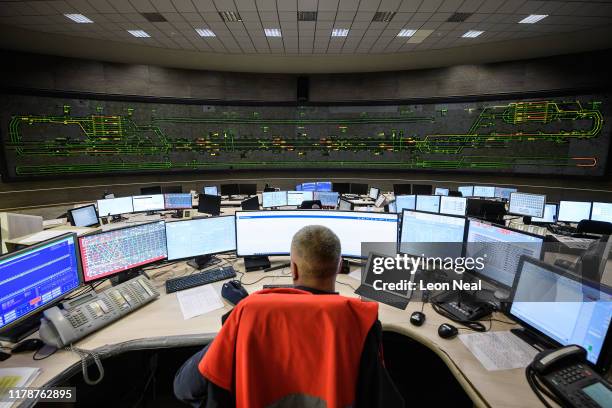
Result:
{"label": "long grey multi-button desk telephone below the red-screened monitor", "polygon": [[43,313],[40,338],[61,348],[152,302],[159,292],[144,276],[138,276],[103,292],[89,292]]}

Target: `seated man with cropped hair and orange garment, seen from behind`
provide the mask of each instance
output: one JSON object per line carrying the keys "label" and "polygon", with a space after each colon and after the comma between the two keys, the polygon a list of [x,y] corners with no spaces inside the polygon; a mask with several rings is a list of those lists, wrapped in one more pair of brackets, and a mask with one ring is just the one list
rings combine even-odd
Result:
{"label": "seated man with cropped hair and orange garment, seen from behind", "polygon": [[[340,241],[328,228],[308,226],[298,231],[291,242],[295,289],[263,290],[241,301],[214,341],[179,369],[174,380],[176,397],[194,407],[306,408],[338,406],[339,402],[353,407],[403,407],[383,366],[378,305],[335,292],[340,254]],[[317,301],[312,295],[325,298],[316,296]],[[250,317],[253,313],[249,312],[258,313],[257,317]],[[262,323],[266,318],[275,320]],[[268,337],[244,341],[240,336]],[[278,362],[287,352],[283,347],[290,349],[290,364]],[[307,350],[312,347],[315,349]],[[245,348],[253,353],[245,353]],[[240,358],[255,361],[245,363]],[[352,368],[357,372],[350,372]],[[285,376],[274,371],[281,369]],[[245,378],[249,377],[245,372],[255,370],[257,378]],[[326,377],[321,370],[333,378],[321,381]],[[262,405],[261,401],[272,403]]]}

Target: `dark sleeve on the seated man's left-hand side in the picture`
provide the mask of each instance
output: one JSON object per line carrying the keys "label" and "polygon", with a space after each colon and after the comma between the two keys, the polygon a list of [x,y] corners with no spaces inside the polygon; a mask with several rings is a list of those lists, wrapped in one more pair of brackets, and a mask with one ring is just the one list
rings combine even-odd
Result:
{"label": "dark sleeve on the seated man's left-hand side in the picture", "polygon": [[207,380],[198,370],[198,364],[211,344],[212,342],[208,343],[206,347],[191,356],[178,370],[174,377],[174,395],[192,407],[234,407],[232,394]]}

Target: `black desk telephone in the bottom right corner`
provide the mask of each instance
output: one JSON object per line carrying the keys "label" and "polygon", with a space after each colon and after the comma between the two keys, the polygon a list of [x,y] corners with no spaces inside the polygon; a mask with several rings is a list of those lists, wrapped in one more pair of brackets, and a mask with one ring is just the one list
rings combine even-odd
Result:
{"label": "black desk telephone in the bottom right corner", "polygon": [[[538,398],[550,406],[540,391],[563,407],[607,408],[612,405],[612,387],[586,362],[586,350],[571,345],[545,350],[527,367],[527,380]],[[547,390],[541,389],[544,384]],[[552,398],[551,398],[552,399]]]}

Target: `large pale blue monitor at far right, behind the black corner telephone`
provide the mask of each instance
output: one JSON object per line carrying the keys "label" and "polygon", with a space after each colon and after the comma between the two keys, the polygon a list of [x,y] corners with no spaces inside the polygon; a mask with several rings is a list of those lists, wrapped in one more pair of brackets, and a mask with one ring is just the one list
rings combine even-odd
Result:
{"label": "large pale blue monitor at far right, behind the black corner telephone", "polygon": [[599,371],[610,363],[612,289],[537,259],[522,257],[507,314],[528,334],[554,345],[577,344]]}

